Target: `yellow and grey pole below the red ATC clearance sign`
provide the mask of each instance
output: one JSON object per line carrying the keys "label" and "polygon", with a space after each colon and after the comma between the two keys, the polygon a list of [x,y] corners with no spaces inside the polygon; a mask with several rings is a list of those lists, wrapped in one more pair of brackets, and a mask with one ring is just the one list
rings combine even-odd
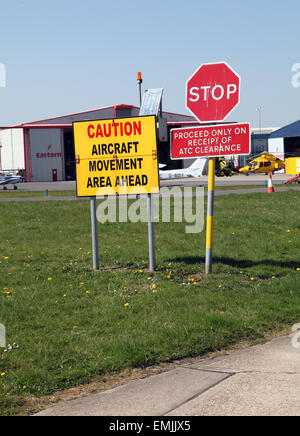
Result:
{"label": "yellow and grey pole below the red ATC clearance sign", "polygon": [[216,159],[209,159],[208,172],[208,198],[207,198],[207,228],[206,228],[206,262],[205,272],[212,272],[212,253],[213,253],[213,228],[214,228],[214,201],[215,201],[215,173]]}

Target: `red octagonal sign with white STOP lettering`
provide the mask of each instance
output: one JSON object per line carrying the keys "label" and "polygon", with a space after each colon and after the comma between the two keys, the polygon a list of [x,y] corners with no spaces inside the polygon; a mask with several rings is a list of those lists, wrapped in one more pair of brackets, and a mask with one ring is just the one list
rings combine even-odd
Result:
{"label": "red octagonal sign with white STOP lettering", "polygon": [[226,63],[202,64],[186,83],[186,107],[200,122],[223,121],[240,102],[240,76]]}

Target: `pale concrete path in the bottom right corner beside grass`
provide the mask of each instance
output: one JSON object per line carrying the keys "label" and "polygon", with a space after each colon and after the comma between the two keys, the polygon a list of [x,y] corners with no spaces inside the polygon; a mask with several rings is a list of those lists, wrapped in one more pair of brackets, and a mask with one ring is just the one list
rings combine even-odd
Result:
{"label": "pale concrete path in the bottom right corner beside grass", "polygon": [[300,416],[292,337],[71,400],[37,416]]}

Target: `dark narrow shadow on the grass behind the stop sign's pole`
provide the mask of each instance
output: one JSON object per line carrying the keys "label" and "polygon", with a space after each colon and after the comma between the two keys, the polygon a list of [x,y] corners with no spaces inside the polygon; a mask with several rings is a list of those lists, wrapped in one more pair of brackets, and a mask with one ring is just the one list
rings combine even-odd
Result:
{"label": "dark narrow shadow on the grass behind the stop sign's pole", "polygon": [[[187,265],[196,265],[199,263],[205,263],[205,257],[197,257],[197,256],[188,256],[188,257],[176,257],[172,259],[173,262],[183,262]],[[214,256],[213,258],[214,263],[220,263],[225,264],[234,268],[251,268],[254,266],[261,266],[261,265],[267,265],[267,266],[277,266],[281,268],[289,268],[293,271],[295,271],[297,268],[300,267],[300,260],[299,262],[293,261],[293,262],[278,262],[274,261],[272,259],[263,259],[260,261],[252,261],[247,259],[233,259],[231,257],[218,257]]]}

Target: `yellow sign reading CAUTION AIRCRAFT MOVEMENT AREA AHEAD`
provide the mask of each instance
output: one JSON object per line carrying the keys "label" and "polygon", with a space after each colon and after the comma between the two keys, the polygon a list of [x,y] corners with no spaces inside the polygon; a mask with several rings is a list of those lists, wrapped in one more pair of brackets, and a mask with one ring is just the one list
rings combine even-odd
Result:
{"label": "yellow sign reading CAUTION AIRCRAFT MOVEMENT AREA AHEAD", "polygon": [[155,116],[73,123],[77,196],[159,192]]}

